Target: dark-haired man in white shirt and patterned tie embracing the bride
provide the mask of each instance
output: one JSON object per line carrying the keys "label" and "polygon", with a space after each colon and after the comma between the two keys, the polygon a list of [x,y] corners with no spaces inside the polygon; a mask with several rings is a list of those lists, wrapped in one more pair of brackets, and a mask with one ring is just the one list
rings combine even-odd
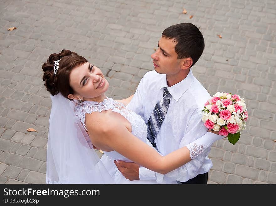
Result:
{"label": "dark-haired man in white shirt and patterned tie embracing the bride", "polygon": [[[210,95],[191,70],[203,50],[203,35],[194,24],[176,24],[165,29],[158,41],[158,49],[151,55],[155,71],[145,74],[127,106],[145,120],[147,138],[162,155],[203,135],[215,135],[207,132],[201,120],[201,111]],[[200,145],[194,145],[192,149],[199,150]],[[204,149],[201,155],[166,175],[136,163],[114,163],[129,180],[207,184],[208,171],[213,166],[207,156],[211,145]]]}

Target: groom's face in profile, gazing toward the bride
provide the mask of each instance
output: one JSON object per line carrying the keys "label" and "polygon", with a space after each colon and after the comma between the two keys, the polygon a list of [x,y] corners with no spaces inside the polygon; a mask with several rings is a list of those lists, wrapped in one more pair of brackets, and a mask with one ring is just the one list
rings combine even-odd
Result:
{"label": "groom's face in profile, gazing toward the bride", "polygon": [[151,55],[157,73],[176,75],[181,71],[182,60],[177,59],[178,55],[174,50],[176,44],[173,39],[163,37],[158,41],[158,49]]}

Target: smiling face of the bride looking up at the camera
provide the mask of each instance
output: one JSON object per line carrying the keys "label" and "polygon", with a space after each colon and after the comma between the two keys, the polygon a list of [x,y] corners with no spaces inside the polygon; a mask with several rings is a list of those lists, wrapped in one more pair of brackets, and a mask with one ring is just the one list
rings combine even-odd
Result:
{"label": "smiling face of the bride looking up at the camera", "polygon": [[83,97],[84,100],[100,97],[109,87],[102,71],[89,62],[72,69],[69,82],[76,92],[75,95]]}

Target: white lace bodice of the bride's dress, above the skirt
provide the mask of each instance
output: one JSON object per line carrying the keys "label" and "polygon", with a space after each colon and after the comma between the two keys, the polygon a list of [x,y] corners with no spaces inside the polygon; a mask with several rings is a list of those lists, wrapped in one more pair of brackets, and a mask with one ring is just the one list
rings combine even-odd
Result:
{"label": "white lace bodice of the bride's dress, above the skirt", "polygon": [[[111,109],[113,112],[117,112],[122,116],[124,116],[125,119],[127,119],[132,126],[131,133],[136,137],[141,138],[141,140],[144,141],[146,144],[153,147],[146,138],[147,127],[144,120],[138,114],[126,108],[124,104],[116,102],[112,98],[106,98],[102,102],[84,101],[82,103],[77,103],[75,107],[75,114],[81,120],[82,125],[86,129],[86,125],[85,125],[86,113],[91,114],[92,112],[102,112],[104,110],[109,110],[109,109]],[[117,160],[129,161],[127,158],[120,155],[116,151],[104,152],[104,153],[105,155],[112,156],[114,157],[114,159],[117,159]]]}

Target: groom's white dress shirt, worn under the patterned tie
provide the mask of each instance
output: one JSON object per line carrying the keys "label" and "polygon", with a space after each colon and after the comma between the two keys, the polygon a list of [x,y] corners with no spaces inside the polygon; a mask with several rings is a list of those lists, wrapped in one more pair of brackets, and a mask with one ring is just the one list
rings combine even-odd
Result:
{"label": "groom's white dress shirt, worn under the patterned tie", "polygon": [[[168,88],[172,98],[165,120],[155,139],[156,147],[162,155],[184,147],[203,135],[215,135],[207,132],[208,129],[201,119],[204,103],[210,95],[193,76],[192,70],[185,79],[171,87],[167,85],[165,74],[158,74],[156,71],[147,72],[127,107],[147,122],[156,103],[163,98],[163,87]],[[141,180],[155,179],[159,183],[170,183],[175,180],[186,182],[198,174],[208,172],[213,166],[208,158],[210,149],[211,145],[202,154],[166,175],[140,167],[139,178]]]}

